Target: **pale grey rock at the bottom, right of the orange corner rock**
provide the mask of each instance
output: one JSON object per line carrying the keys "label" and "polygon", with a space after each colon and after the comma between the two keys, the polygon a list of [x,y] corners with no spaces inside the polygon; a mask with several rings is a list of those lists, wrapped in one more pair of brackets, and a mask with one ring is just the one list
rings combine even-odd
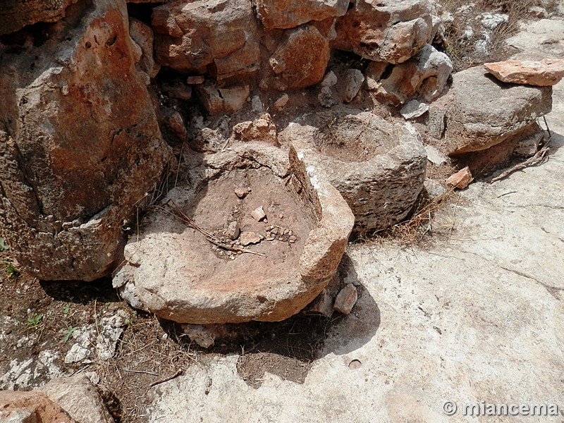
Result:
{"label": "pale grey rock at the bottom, right of the orange corner rock", "polygon": [[104,400],[85,374],[54,379],[39,391],[77,422],[114,423]]}

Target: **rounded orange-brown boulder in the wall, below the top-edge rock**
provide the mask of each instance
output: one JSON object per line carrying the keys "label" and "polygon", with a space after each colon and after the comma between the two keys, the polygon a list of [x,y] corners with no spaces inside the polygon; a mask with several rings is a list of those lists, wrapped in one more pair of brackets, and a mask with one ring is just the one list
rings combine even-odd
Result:
{"label": "rounded orange-brown boulder in the wall, below the top-edge rock", "polygon": [[329,63],[329,39],[315,25],[288,30],[269,59],[274,75],[262,80],[264,89],[284,91],[321,82]]}

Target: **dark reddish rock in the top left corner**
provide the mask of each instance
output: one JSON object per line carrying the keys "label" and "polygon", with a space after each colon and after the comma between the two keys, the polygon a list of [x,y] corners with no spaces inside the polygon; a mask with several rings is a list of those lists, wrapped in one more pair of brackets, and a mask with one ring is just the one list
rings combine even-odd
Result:
{"label": "dark reddish rock in the top left corner", "polygon": [[0,35],[10,34],[25,25],[55,22],[77,0],[4,0],[0,4]]}

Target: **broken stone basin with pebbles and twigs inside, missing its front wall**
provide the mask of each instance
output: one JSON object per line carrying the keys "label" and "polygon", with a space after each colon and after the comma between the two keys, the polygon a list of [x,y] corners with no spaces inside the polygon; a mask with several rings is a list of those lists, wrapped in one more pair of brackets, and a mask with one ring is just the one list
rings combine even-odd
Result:
{"label": "broken stone basin with pebbles and twigs inside, missing its front wall", "polygon": [[[265,148],[273,149],[273,158],[280,151]],[[114,286],[135,293],[132,305],[182,323],[280,321],[299,312],[335,274],[354,216],[317,166],[290,153],[292,176],[286,183],[260,166],[222,171],[195,188],[171,190],[168,205],[149,215],[139,239],[126,245]],[[243,199],[241,188],[248,192]],[[240,243],[245,236],[255,242],[255,234],[264,237],[245,247],[260,255],[217,247],[173,216],[172,204],[219,239],[229,223],[238,221]],[[261,206],[267,223],[251,216]],[[276,237],[266,232],[272,227]],[[292,232],[281,235],[284,229]]]}

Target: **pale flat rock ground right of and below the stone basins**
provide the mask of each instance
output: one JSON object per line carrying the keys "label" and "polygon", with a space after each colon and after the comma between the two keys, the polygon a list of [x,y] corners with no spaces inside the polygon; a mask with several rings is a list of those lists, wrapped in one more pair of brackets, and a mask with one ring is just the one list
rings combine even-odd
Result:
{"label": "pale flat rock ground right of and below the stone basins", "polygon": [[[550,159],[470,185],[434,247],[350,246],[362,295],[304,384],[254,389],[221,357],[159,385],[151,421],[564,422],[564,82],[547,121]],[[465,415],[490,403],[558,414]]]}

